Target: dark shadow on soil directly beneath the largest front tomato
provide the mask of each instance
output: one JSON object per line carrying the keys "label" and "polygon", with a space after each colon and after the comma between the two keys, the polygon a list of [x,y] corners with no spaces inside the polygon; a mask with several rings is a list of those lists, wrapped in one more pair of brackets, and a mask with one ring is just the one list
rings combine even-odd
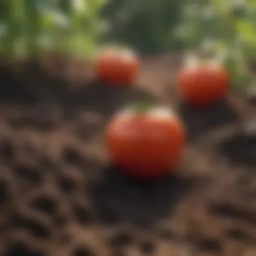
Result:
{"label": "dark shadow on soil directly beneath the largest front tomato", "polygon": [[102,222],[130,222],[147,228],[169,216],[193,185],[193,181],[177,174],[157,182],[137,181],[115,167],[108,167],[103,177],[90,187],[90,198]]}

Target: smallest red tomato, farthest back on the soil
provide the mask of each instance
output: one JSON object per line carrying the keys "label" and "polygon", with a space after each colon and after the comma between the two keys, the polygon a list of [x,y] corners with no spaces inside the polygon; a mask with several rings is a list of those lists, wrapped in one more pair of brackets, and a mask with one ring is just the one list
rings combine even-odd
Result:
{"label": "smallest red tomato, farthest back on the soil", "polygon": [[132,51],[106,49],[95,61],[96,76],[110,84],[131,84],[139,70],[139,60]]}

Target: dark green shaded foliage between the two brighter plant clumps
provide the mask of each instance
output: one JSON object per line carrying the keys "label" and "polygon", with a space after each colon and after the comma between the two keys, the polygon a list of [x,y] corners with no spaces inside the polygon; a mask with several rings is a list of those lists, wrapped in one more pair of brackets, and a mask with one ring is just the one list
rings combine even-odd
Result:
{"label": "dark green shaded foliage between the two brighter plant clumps", "polygon": [[111,0],[102,11],[110,24],[105,39],[128,44],[141,53],[177,47],[171,31],[181,7],[178,0]]}

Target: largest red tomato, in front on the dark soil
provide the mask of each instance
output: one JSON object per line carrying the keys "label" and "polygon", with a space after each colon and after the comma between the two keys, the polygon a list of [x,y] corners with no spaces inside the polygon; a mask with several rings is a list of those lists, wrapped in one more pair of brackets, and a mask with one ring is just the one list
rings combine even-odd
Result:
{"label": "largest red tomato, in front on the dark soil", "polygon": [[165,108],[123,110],[106,127],[110,159],[135,177],[161,177],[174,168],[185,148],[185,128]]}

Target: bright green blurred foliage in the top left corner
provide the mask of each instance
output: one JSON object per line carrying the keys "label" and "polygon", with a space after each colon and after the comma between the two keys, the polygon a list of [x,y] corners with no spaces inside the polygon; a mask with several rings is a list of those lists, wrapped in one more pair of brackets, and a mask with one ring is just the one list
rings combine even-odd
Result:
{"label": "bright green blurred foliage in the top left corner", "polygon": [[90,55],[104,0],[1,0],[0,51],[7,57],[39,51]]}

